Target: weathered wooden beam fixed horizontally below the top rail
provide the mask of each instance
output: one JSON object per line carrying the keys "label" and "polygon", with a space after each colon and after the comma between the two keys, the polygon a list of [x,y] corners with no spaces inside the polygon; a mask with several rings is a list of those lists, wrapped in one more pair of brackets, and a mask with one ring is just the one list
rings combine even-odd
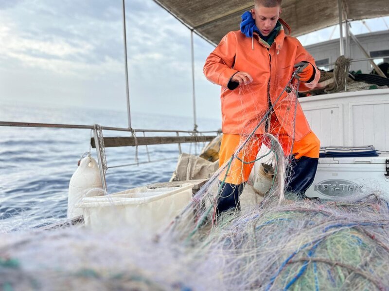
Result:
{"label": "weathered wooden beam fixed horizontally below the top rail", "polygon": [[[165,144],[183,144],[183,143],[197,143],[210,142],[216,136],[214,135],[197,135],[197,136],[140,136],[136,138],[131,137],[105,137],[105,147],[115,146],[146,146],[146,145],[165,145]],[[90,139],[90,145],[96,148],[94,138]]]}

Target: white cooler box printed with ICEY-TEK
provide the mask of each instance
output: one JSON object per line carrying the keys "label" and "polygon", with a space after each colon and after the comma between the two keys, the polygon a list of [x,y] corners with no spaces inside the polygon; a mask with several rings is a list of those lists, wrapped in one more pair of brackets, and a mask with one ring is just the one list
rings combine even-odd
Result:
{"label": "white cooler box printed with ICEY-TEK", "polygon": [[389,195],[389,153],[376,157],[319,158],[308,197],[336,199],[358,194]]}

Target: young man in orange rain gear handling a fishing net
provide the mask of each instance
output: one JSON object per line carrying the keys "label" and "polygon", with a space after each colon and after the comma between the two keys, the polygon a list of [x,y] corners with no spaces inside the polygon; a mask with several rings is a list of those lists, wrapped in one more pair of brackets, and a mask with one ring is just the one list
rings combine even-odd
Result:
{"label": "young man in orange rain gear handling a fishing net", "polygon": [[[260,137],[265,132],[274,134],[277,131],[285,154],[291,154],[291,176],[286,181],[286,190],[302,195],[315,177],[320,142],[298,102],[296,109],[292,108],[294,114],[290,114],[289,106],[272,107],[272,104],[279,96],[281,100],[285,99],[287,93],[283,89],[296,67],[299,67],[296,79],[301,81],[301,90],[313,88],[320,73],[313,57],[289,35],[290,27],[280,18],[281,2],[255,0],[254,9],[242,15],[240,31],[227,33],[209,55],[204,74],[209,81],[222,86],[223,139],[219,166],[229,161],[239,144],[268,114],[269,122],[256,129],[255,135]],[[270,108],[273,110],[269,113]],[[288,142],[290,140],[293,142]],[[251,143],[238,157],[242,161],[252,161],[260,146]],[[239,195],[252,166],[252,163],[238,160],[231,164],[231,174],[226,177],[218,198],[218,213],[239,208]]]}

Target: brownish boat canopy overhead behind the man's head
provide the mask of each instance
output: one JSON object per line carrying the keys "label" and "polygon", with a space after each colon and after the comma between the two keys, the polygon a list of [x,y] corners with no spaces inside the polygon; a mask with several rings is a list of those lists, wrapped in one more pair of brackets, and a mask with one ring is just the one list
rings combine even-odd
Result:
{"label": "brownish boat canopy overhead behind the man's head", "polygon": [[[155,0],[183,24],[212,44],[229,31],[239,29],[240,16],[253,8],[254,0]],[[281,17],[292,28],[292,35],[339,23],[339,6],[343,2],[343,19],[360,20],[389,15],[388,0],[283,0]]]}

